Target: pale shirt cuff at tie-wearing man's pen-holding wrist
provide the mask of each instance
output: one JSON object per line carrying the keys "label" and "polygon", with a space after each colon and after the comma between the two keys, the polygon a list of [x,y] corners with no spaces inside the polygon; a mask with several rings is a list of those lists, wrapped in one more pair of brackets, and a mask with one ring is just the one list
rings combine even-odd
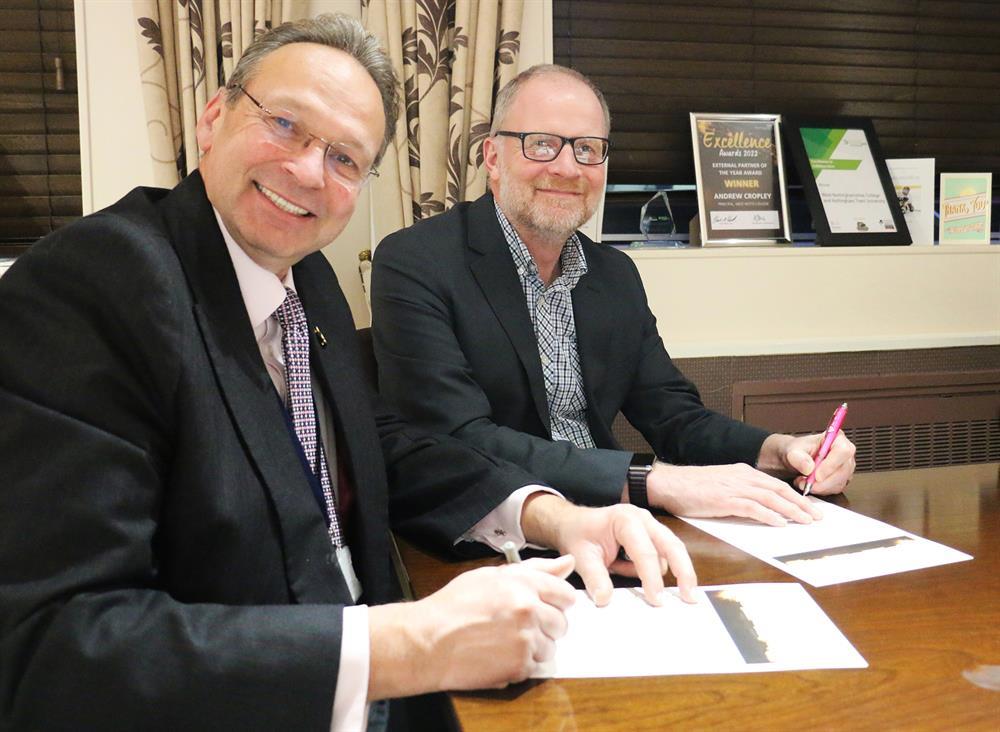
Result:
{"label": "pale shirt cuff at tie-wearing man's pen-holding wrist", "polygon": [[363,730],[368,726],[368,673],[371,668],[368,606],[345,607],[342,626],[340,668],[333,694],[330,732]]}

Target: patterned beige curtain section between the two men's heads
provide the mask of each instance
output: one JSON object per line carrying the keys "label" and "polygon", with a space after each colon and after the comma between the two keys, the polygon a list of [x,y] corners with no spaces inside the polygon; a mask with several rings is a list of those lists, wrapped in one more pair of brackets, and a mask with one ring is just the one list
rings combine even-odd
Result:
{"label": "patterned beige curtain section between the two men's heads", "polygon": [[394,143],[371,185],[373,243],[486,190],[483,140],[517,74],[524,0],[362,0],[403,80]]}

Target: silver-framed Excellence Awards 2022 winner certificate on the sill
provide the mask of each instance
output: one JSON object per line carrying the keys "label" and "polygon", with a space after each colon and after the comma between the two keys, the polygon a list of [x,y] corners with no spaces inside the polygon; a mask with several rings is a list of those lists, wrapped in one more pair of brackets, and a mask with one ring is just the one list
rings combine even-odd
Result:
{"label": "silver-framed Excellence Awards 2022 winner certificate on the sill", "polygon": [[691,113],[704,246],[791,243],[780,121],[776,114]]}

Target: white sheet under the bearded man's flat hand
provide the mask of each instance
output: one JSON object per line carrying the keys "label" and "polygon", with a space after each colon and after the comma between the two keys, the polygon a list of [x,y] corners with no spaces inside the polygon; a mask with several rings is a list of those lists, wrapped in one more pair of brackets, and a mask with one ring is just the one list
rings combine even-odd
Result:
{"label": "white sheet under the bearded man's flat hand", "polygon": [[684,521],[813,587],[972,559],[882,521],[810,500],[823,511],[822,520],[811,524],[765,526],[738,518]]}

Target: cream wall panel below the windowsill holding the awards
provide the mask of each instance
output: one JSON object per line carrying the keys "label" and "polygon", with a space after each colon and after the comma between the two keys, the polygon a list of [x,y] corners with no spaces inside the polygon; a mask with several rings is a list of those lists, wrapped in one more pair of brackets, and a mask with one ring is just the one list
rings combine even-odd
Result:
{"label": "cream wall panel below the windowsill holding the awards", "polygon": [[1000,344],[1000,246],[631,254],[675,358]]}

